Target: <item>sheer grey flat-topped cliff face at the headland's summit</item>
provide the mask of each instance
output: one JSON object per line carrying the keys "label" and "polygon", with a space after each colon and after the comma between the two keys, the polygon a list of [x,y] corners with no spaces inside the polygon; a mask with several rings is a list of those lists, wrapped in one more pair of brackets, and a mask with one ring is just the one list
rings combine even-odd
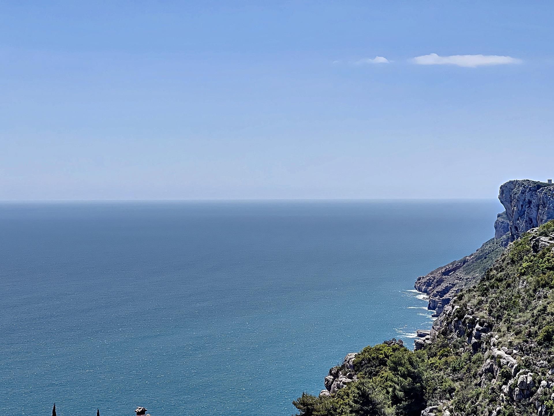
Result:
{"label": "sheer grey flat-topped cliff face at the headland's summit", "polygon": [[510,239],[554,219],[554,186],[531,180],[511,180],[500,186],[498,196],[506,209]]}

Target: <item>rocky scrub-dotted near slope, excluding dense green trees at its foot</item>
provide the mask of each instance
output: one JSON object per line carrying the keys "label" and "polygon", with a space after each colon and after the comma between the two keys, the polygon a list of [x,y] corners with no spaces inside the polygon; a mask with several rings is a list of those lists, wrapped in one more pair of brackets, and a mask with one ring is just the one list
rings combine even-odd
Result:
{"label": "rocky scrub-dotted near slope, excluding dense green trees at its foot", "polygon": [[416,339],[416,350],[450,344],[479,364],[429,414],[554,414],[554,221],[527,231]]}

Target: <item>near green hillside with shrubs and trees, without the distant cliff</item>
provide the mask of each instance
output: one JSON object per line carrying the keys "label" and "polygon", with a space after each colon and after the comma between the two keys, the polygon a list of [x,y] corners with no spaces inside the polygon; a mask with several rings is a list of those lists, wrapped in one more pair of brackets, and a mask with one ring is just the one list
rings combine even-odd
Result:
{"label": "near green hillside with shrubs and trees, without the distant cliff", "polygon": [[[302,394],[299,415],[419,416],[437,406],[438,416],[523,416],[536,415],[536,403],[541,415],[554,414],[554,250],[537,250],[541,236],[554,236],[554,221],[512,243],[460,292],[428,347],[412,352],[391,341],[362,349],[355,381],[331,397]],[[531,374],[525,388],[522,374]]]}

